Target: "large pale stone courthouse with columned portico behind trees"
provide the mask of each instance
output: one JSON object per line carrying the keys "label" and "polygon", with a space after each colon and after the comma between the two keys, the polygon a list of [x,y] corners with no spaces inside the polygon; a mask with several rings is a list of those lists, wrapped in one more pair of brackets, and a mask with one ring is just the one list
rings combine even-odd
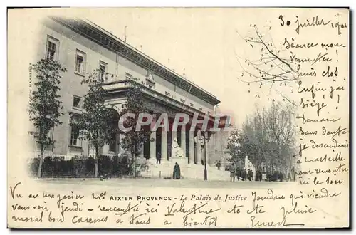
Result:
{"label": "large pale stone courthouse with columned portico behind trees", "polygon": [[[67,68],[60,91],[64,107],[64,115],[61,116],[63,125],[53,128],[51,135],[56,144],[48,147],[45,155],[70,158],[93,153],[88,142],[78,138],[75,118],[82,112],[83,96],[88,92],[80,81],[95,69],[105,80],[104,88],[109,92],[107,103],[117,114],[113,123],[117,123],[118,112],[125,104],[127,91],[132,85],[139,86],[145,94],[152,113],[167,113],[170,122],[176,113],[187,113],[191,117],[194,113],[201,117],[209,115],[209,124],[214,122],[214,111],[220,103],[214,95],[94,23],[48,17],[43,21],[40,33],[36,59],[51,58]],[[142,146],[140,157],[155,158],[160,153],[162,161],[169,160],[172,142],[176,139],[189,163],[201,164],[204,152],[208,160],[209,155],[214,159],[208,163],[216,162],[224,152],[224,146],[216,147],[224,142],[216,141],[221,139],[220,133],[201,132],[199,128],[189,130],[187,125],[179,127],[177,132],[161,129],[152,132],[154,141]],[[206,145],[203,144],[203,136]],[[124,151],[120,147],[122,136],[115,135],[113,138],[115,142],[112,145],[103,147],[103,155],[120,155]],[[38,147],[35,149],[38,151]]]}

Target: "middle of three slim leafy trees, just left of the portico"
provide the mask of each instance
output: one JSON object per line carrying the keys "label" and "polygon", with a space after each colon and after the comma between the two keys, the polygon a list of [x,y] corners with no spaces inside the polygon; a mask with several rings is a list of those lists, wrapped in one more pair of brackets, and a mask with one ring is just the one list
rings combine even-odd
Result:
{"label": "middle of three slim leafy trees, just left of the portico", "polygon": [[112,142],[112,110],[105,104],[108,91],[103,88],[104,80],[97,73],[84,78],[82,84],[88,85],[88,94],[83,100],[83,113],[78,116],[78,125],[81,140],[88,140],[90,146],[95,150],[95,177],[98,177],[98,160],[100,150],[104,145]]}

